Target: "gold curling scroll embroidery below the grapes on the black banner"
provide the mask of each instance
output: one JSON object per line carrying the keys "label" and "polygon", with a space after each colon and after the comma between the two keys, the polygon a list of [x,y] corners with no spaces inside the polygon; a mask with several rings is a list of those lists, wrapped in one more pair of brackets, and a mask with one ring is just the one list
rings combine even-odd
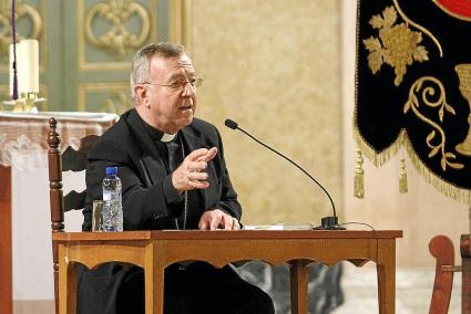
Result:
{"label": "gold curling scroll embroidery below the grapes on the black banner", "polygon": [[[436,101],[430,100],[431,96],[436,95],[436,90],[431,86],[422,88],[424,83],[429,83],[429,84],[432,84],[433,86],[438,86],[439,94]],[[417,94],[419,93],[421,95],[421,98],[417,96]],[[463,164],[451,161],[457,159],[457,155],[454,155],[451,151],[446,151],[447,135],[443,128],[438,123],[433,122],[431,118],[426,117],[419,111],[419,106],[421,103],[432,108],[439,108],[438,113],[439,113],[440,123],[443,122],[446,112],[449,114],[455,115],[453,107],[447,103],[447,95],[446,95],[443,84],[436,77],[423,76],[417,80],[412,84],[412,86],[409,90],[409,100],[406,102],[403,106],[403,114],[408,114],[408,112],[411,109],[419,119],[421,119],[422,122],[424,122],[426,124],[430,125],[433,128],[426,138],[427,146],[430,148],[428,158],[432,158],[440,153],[441,155],[440,166],[443,171],[447,171],[447,167],[450,167],[453,169],[464,168]],[[437,135],[439,137],[439,143],[433,144]]]}

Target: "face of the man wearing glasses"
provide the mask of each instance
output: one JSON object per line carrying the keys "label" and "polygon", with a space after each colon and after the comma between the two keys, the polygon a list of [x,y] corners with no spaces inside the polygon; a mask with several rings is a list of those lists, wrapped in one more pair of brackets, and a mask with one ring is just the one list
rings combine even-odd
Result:
{"label": "face of the man wearing glasses", "polygon": [[151,59],[145,104],[150,108],[154,127],[174,134],[192,123],[196,108],[196,90],[187,82],[194,80],[195,70],[186,54]]}

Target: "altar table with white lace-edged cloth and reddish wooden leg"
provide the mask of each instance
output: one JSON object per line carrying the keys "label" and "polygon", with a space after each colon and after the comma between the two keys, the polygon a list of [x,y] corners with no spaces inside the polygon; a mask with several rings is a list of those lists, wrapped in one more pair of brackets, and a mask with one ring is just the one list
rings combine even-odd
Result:
{"label": "altar table with white lace-edged cloth and reddish wooden leg", "polygon": [[[12,167],[47,168],[48,119],[60,122],[63,148],[90,134],[102,134],[117,121],[114,114],[0,112],[0,313],[12,313]],[[17,156],[27,158],[16,159]],[[48,186],[44,181],[44,189]],[[47,202],[49,199],[39,200]],[[51,269],[52,275],[52,269]]]}

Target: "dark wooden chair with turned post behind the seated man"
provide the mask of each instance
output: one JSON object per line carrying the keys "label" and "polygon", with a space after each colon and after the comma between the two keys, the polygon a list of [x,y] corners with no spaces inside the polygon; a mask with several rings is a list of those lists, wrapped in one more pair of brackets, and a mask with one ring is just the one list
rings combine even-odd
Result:
{"label": "dark wooden chair with turned post behind the seated man", "polygon": [[[86,154],[99,136],[90,135],[80,140],[78,150],[68,147],[61,154],[61,138],[57,132],[58,121],[49,119],[48,163],[49,163],[49,199],[51,209],[52,233],[64,231],[64,212],[82,210],[85,205],[85,189],[81,192],[72,190],[65,197],[62,192],[62,171],[82,171],[86,168]],[[59,312],[59,261],[58,245],[52,241],[55,312]]]}

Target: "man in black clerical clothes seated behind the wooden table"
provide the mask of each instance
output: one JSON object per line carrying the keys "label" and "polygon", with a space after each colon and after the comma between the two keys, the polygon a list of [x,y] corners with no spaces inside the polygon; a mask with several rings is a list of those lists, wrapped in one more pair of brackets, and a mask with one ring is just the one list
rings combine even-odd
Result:
{"label": "man in black clerical clothes seated behind the wooden table", "polygon": [[[242,214],[221,135],[194,118],[195,75],[183,46],[150,44],[133,60],[134,108],[124,113],[89,153],[83,230],[92,202],[102,199],[105,168],[122,180],[124,230],[238,230]],[[236,250],[236,248],[234,248]],[[82,270],[78,312],[144,313],[144,274],[107,263]],[[269,296],[227,265],[173,264],[165,270],[165,313],[274,313]]]}

